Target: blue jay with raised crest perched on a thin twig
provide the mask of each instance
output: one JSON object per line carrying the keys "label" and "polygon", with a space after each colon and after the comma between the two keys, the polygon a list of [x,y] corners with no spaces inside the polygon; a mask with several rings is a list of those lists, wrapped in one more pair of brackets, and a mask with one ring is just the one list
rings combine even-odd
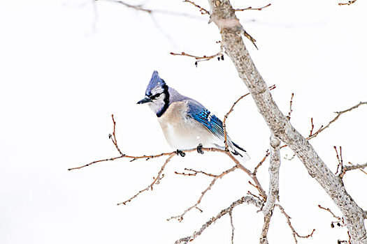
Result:
{"label": "blue jay with raised crest perched on a thin twig", "polygon": [[[138,104],[143,103],[147,103],[157,115],[168,144],[182,157],[185,156],[183,150],[192,148],[197,148],[198,153],[203,153],[203,146],[224,149],[222,121],[201,103],[168,87],[155,70],[145,98],[138,101]],[[239,155],[243,160],[250,159],[245,149],[232,142],[228,135],[226,139],[233,155]]]}

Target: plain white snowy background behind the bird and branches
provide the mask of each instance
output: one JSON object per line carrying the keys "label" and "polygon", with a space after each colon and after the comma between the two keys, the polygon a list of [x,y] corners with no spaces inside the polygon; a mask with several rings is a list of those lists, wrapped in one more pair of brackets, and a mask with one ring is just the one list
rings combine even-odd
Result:
{"label": "plain white snowy background behind the bird and branches", "polygon": [[[142,3],[131,1],[132,4]],[[108,134],[117,121],[117,140],[129,155],[171,151],[155,115],[136,105],[154,69],[180,93],[199,100],[223,118],[247,89],[227,56],[199,63],[169,52],[215,54],[220,35],[208,16],[182,1],[143,1],[146,8],[186,13],[148,15],[120,4],[88,0],[0,1],[0,243],[173,243],[198,230],[213,215],[246,194],[256,193],[248,176],[235,171],[217,181],[182,222],[166,221],[192,206],[211,178],[179,176],[185,167],[220,174],[233,163],[223,155],[175,157],[153,191],[117,206],[152,182],[164,162],[117,160],[68,171],[117,156]],[[197,1],[208,8],[206,1]],[[235,8],[268,1],[233,1]],[[303,135],[326,125],[333,112],[366,101],[366,1],[338,6],[330,1],[276,1],[261,11],[238,13],[257,39],[247,48],[284,113],[294,93],[292,124]],[[333,146],[343,146],[345,163],[366,162],[367,106],[344,114],[311,143],[332,171]],[[269,130],[248,97],[228,119],[233,141],[254,165],[268,148]],[[282,149],[282,157],[292,151]],[[268,161],[259,170],[268,189]],[[345,187],[367,209],[367,176],[348,172]],[[299,243],[336,243],[346,228],[331,229],[340,212],[298,160],[282,160],[280,203],[300,234]],[[233,211],[236,243],[258,243],[262,213],[242,205]],[[294,243],[276,210],[271,243]],[[231,243],[229,216],[194,243]]]}

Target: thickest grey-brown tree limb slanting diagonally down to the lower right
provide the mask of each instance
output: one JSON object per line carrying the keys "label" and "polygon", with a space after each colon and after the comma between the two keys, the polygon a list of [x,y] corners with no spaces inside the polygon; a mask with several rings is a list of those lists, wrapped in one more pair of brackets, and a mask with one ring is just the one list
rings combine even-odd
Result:
{"label": "thickest grey-brown tree limb slanting diagonally down to the lower right", "polygon": [[236,17],[231,3],[229,0],[209,0],[209,3],[212,9],[210,19],[220,29],[225,52],[236,66],[238,75],[250,90],[255,104],[271,132],[296,153],[310,176],[315,178],[340,208],[350,231],[352,244],[367,243],[364,211],[347,193],[341,179],[335,176],[319,158],[308,140],[280,112],[243,43],[241,37],[243,27]]}

